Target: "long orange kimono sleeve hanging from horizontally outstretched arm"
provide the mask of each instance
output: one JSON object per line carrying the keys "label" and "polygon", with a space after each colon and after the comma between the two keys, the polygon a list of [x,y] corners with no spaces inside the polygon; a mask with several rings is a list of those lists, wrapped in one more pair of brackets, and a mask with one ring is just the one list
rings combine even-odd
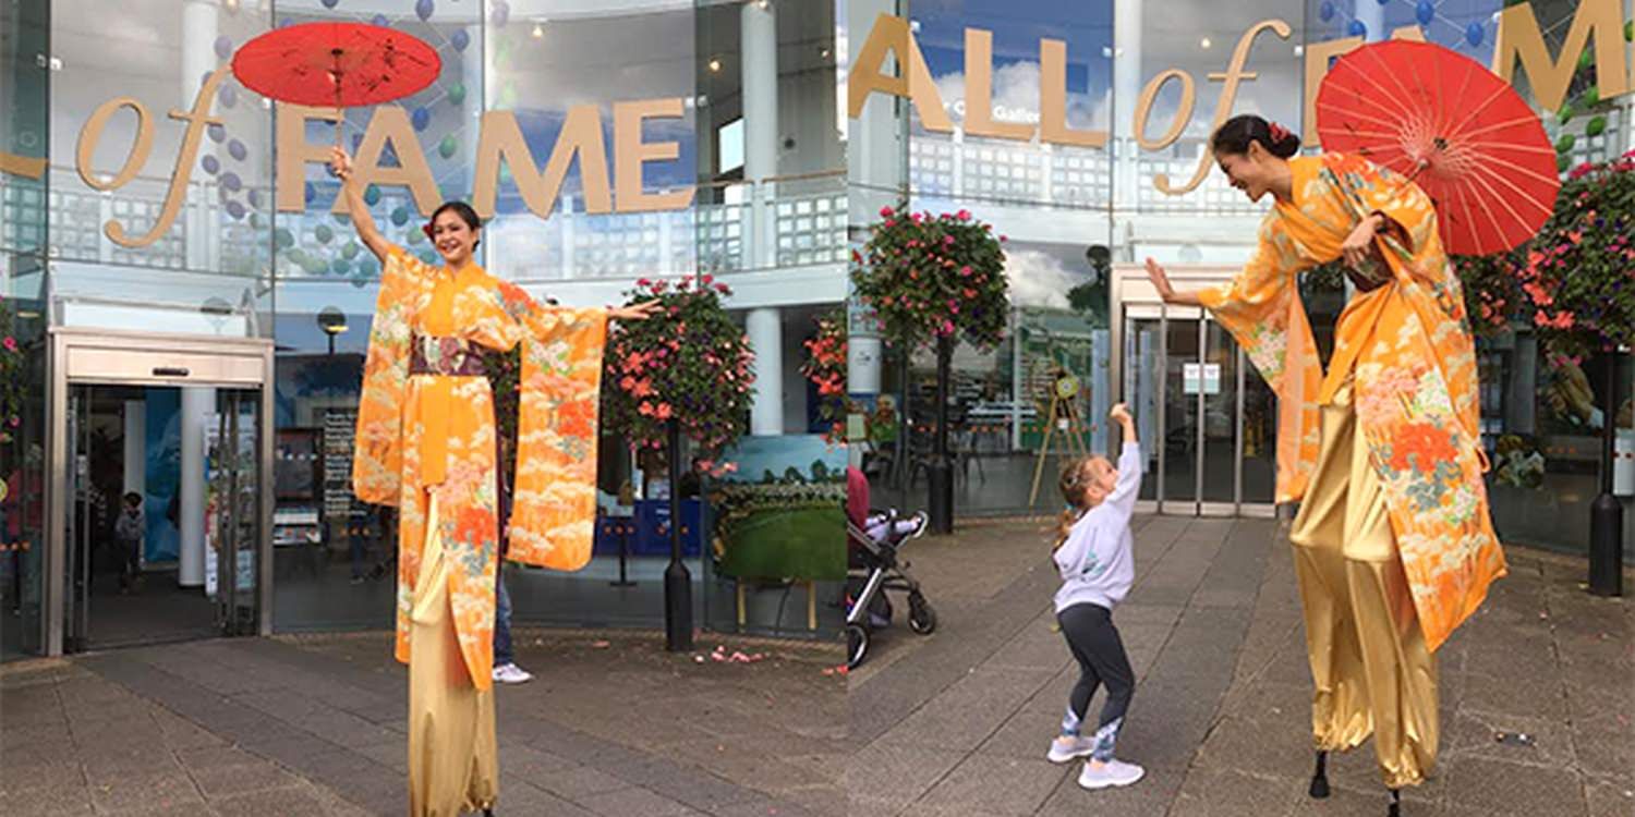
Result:
{"label": "long orange kimono sleeve hanging from horizontally outstretched arm", "polygon": [[590,562],[597,518],[597,420],[605,309],[541,306],[502,284],[523,327],[507,557],[579,570]]}

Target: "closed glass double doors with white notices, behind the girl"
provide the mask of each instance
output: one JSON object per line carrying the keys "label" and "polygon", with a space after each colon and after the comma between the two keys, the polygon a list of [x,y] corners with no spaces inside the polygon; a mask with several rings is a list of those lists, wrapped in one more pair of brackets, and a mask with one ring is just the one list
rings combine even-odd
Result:
{"label": "closed glass double doors with white notices, behind the girl", "polygon": [[1141,498],[1187,516],[1270,508],[1275,400],[1231,333],[1189,307],[1127,306],[1123,320]]}

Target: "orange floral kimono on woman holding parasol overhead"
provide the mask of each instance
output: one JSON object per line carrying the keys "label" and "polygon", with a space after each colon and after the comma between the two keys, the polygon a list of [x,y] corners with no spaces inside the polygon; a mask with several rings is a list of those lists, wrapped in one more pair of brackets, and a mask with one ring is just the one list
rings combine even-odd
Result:
{"label": "orange floral kimono on woman holding parasol overhead", "polygon": [[409,662],[410,613],[435,493],[443,547],[455,565],[448,593],[459,652],[473,685],[492,686],[499,569],[494,399],[481,374],[410,374],[410,358],[458,371],[464,358],[484,350],[523,345],[507,557],[577,570],[590,560],[595,525],[605,335],[603,309],[541,306],[481,266],[450,273],[392,250],[370,327],[352,479],[360,500],[399,510],[397,660]]}

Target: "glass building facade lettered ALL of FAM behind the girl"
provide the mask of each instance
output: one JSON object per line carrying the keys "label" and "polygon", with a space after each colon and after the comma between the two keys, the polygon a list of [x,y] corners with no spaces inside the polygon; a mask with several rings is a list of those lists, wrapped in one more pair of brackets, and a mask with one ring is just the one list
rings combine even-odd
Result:
{"label": "glass building facade lettered ALL of FAM behind the girl", "polygon": [[[1053,513],[1061,458],[1105,453],[1117,443],[1102,422],[1117,400],[1133,407],[1149,441],[1146,510],[1272,513],[1275,397],[1205,314],[1162,307],[1141,263],[1156,258],[1177,286],[1197,288],[1230,279],[1252,250],[1269,199],[1248,201],[1210,162],[1205,145],[1220,121],[1257,113],[1305,136],[1305,150],[1316,152],[1311,108],[1331,59],[1396,36],[1494,65],[1501,25],[1514,26],[1507,42],[1530,36],[1527,21],[1501,23],[1512,5],[847,3],[853,75],[862,67],[852,60],[876,16],[893,15],[906,21],[932,85],[917,100],[876,92],[850,111],[853,243],[867,240],[880,206],[898,201],[934,212],[968,209],[1007,237],[1010,337],[991,353],[961,346],[953,361],[956,513]],[[1540,111],[1563,167],[1635,147],[1630,95],[1596,100],[1588,113],[1563,119],[1555,105],[1539,103],[1529,74],[1591,65],[1594,39],[1584,46],[1573,38],[1597,21],[1610,25],[1594,28],[1594,36],[1615,39],[1627,60],[1630,5],[1525,7],[1555,64],[1517,65],[1514,87]],[[1568,42],[1583,47],[1583,57],[1566,52]],[[1509,46],[1503,56],[1522,62]],[[1592,77],[1581,70],[1568,88],[1579,108],[1589,85]],[[973,100],[984,96],[989,111],[981,116],[983,103]],[[937,111],[924,109],[932,106],[942,109],[943,124],[935,123]],[[1301,291],[1326,355],[1346,292],[1316,279],[1303,281]],[[924,507],[935,430],[934,356],[875,346],[867,314],[852,328],[853,346],[868,353],[862,369],[853,353],[852,387],[870,420],[862,448],[873,490],[881,503]],[[1483,438],[1496,464],[1488,482],[1501,536],[1583,552],[1589,503],[1599,492],[1604,364],[1560,371],[1525,325],[1481,338],[1480,353]],[[1625,368],[1620,392],[1635,394],[1627,358],[1619,366]],[[1069,400],[1053,395],[1061,374],[1081,386]],[[1628,412],[1615,422],[1630,423]],[[1511,459],[1511,467],[1498,467]],[[1628,458],[1619,462],[1628,469]],[[1630,485],[1620,490],[1635,490],[1635,479],[1625,477],[1635,472],[1620,477]],[[1635,525],[1627,526],[1625,542],[1635,534]]]}

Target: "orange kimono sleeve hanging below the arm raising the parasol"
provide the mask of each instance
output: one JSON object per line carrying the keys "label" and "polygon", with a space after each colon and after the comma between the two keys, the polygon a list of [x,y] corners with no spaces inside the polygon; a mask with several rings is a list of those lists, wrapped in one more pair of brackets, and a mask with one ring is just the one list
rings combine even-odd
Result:
{"label": "orange kimono sleeve hanging below the arm raising the parasol", "polygon": [[363,363],[352,492],[374,505],[397,505],[402,485],[402,404],[409,381],[409,333],[423,275],[419,261],[394,247],[381,273]]}

